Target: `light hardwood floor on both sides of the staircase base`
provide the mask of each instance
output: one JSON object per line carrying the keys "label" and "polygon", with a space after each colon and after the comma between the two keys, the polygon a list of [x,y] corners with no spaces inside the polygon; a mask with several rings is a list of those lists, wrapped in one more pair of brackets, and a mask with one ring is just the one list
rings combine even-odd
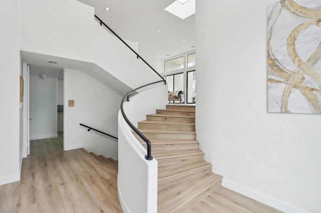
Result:
{"label": "light hardwood floor on both sides of the staircase base", "polygon": [[[63,151],[61,133],[58,138],[31,141],[21,181],[0,186],[1,213],[122,212],[117,162],[84,149]],[[220,187],[188,212],[279,211]]]}

